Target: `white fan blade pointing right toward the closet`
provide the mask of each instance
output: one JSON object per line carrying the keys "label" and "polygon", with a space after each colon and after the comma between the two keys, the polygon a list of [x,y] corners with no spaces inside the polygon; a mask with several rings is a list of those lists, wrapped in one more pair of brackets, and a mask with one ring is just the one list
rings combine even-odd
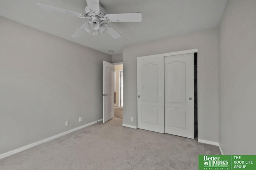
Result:
{"label": "white fan blade pointing right toward the closet", "polygon": [[141,22],[141,13],[127,13],[127,14],[106,14],[106,21],[110,22]]}

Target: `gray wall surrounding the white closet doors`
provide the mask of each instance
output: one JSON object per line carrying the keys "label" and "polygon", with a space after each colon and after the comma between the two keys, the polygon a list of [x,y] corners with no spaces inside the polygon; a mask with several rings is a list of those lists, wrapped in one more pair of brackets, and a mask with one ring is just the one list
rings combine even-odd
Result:
{"label": "gray wall surrounding the white closet doors", "polygon": [[189,49],[198,49],[198,139],[218,142],[218,28],[123,49],[124,124],[137,125],[136,58]]}

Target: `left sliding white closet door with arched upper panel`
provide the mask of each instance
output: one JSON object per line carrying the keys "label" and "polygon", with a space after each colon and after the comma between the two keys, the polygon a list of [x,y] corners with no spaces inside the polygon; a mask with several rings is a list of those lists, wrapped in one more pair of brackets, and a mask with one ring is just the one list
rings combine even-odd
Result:
{"label": "left sliding white closet door with arched upper panel", "polygon": [[164,57],[137,61],[138,128],[164,133]]}

